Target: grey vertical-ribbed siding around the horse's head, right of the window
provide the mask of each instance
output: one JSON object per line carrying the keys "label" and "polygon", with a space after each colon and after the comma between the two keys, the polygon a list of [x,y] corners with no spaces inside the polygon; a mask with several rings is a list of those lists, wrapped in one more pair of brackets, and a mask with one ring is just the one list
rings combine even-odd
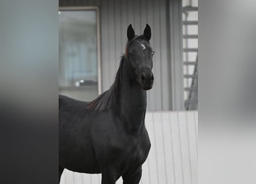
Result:
{"label": "grey vertical-ribbed siding around the horse's head, right of the window", "polygon": [[141,34],[148,23],[152,29],[151,45],[154,55],[154,87],[148,91],[148,110],[170,110],[170,52],[167,43],[169,7],[166,0],[74,0],[59,1],[59,6],[99,6],[101,20],[102,90],[113,83],[120,56],[125,51],[127,27],[133,25]]}

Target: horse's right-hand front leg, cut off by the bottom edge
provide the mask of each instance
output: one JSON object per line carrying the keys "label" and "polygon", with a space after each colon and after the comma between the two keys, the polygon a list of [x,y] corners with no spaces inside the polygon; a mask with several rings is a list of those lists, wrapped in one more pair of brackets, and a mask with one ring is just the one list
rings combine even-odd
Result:
{"label": "horse's right-hand front leg, cut off by the bottom edge", "polygon": [[124,184],[139,184],[140,178],[142,178],[142,166],[128,170],[122,175],[122,178]]}

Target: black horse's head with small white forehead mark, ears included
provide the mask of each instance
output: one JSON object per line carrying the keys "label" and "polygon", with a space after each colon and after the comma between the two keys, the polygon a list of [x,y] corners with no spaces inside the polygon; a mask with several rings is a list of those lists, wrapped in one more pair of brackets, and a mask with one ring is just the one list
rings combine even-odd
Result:
{"label": "black horse's head with small white forehead mark, ears included", "polygon": [[147,24],[143,34],[136,36],[130,24],[127,29],[127,37],[125,56],[128,61],[129,74],[142,86],[142,89],[150,90],[154,82],[152,73],[154,51],[150,45],[151,28]]}

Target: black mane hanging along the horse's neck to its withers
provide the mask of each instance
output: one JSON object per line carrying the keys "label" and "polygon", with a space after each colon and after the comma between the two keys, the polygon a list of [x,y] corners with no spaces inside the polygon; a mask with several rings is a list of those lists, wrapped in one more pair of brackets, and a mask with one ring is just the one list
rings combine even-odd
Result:
{"label": "black mane hanging along the horse's neck to its withers", "polygon": [[93,101],[89,102],[87,109],[90,110],[106,110],[111,108],[117,102],[117,97],[119,95],[121,78],[122,78],[122,69],[124,64],[125,56],[121,57],[120,66],[116,73],[116,78],[114,79],[113,85],[108,91],[105,91],[100,96],[95,98]]}

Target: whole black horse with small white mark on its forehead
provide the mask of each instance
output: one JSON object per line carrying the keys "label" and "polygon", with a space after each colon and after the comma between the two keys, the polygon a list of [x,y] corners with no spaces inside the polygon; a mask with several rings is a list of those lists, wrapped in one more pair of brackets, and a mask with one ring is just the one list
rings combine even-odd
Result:
{"label": "whole black horse with small white mark on its forehead", "polygon": [[59,179],[64,168],[102,174],[102,184],[138,184],[150,151],[144,120],[146,90],[153,85],[151,28],[136,36],[127,29],[127,47],[116,79],[92,102],[59,95]]}

